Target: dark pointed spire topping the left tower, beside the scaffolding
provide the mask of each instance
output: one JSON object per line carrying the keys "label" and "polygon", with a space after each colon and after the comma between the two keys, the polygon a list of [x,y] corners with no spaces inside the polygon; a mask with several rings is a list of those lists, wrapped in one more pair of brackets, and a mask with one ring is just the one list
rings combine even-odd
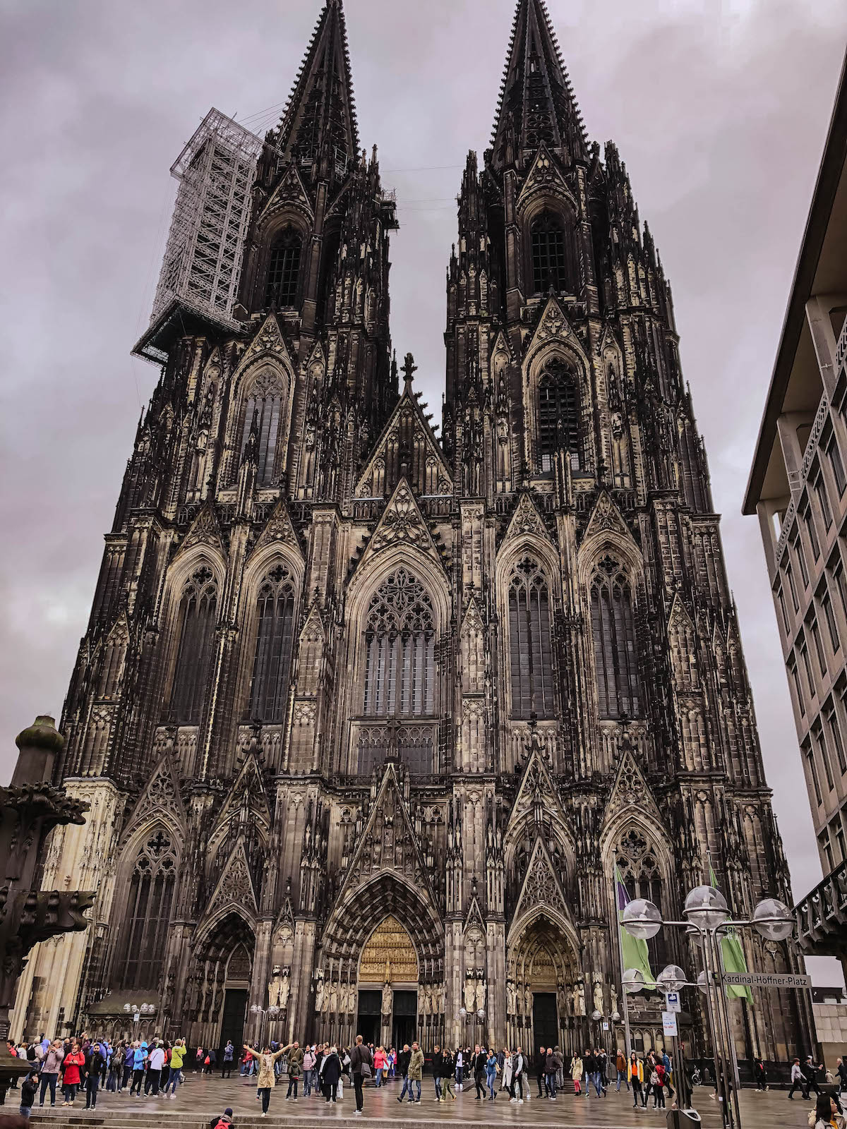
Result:
{"label": "dark pointed spire topping the left tower, beside the scaffolding", "polygon": [[318,175],[340,172],[342,166],[346,170],[358,156],[359,132],[341,0],[328,0],[321,12],[280,119],[277,148],[302,168],[317,165]]}

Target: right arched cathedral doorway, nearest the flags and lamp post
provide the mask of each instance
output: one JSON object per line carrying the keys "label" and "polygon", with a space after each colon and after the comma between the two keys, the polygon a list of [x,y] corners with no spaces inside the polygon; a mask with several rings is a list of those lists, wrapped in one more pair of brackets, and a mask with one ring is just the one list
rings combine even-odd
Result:
{"label": "right arched cathedral doorway, nearest the flags and lamp post", "polygon": [[539,1047],[575,1049],[585,1016],[585,989],[564,929],[545,913],[533,917],[509,945],[506,1012],[509,1040],[534,1053]]}

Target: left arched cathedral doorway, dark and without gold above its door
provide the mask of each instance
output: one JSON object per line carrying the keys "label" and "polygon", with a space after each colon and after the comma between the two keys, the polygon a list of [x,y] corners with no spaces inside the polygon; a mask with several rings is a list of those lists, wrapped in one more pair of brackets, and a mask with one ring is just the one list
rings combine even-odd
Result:
{"label": "left arched cathedral doorway, dark and without gold above its door", "polygon": [[222,918],[198,946],[193,994],[198,1045],[222,1049],[228,1040],[236,1048],[243,1044],[254,947],[253,930],[235,912]]}

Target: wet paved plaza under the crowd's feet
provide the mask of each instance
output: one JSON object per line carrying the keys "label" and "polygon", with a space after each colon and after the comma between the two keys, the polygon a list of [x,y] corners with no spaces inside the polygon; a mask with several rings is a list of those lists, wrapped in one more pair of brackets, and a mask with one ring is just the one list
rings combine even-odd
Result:
{"label": "wet paved plaza under the crowd's feet", "polygon": [[[245,1126],[290,1124],[295,1129],[311,1129],[318,1122],[341,1121],[350,1126],[357,1124],[353,1118],[355,1100],[352,1089],[344,1087],[343,1100],[337,1104],[326,1104],[322,1097],[300,1097],[299,1101],[286,1101],[286,1085],[276,1087],[271,1096],[268,1118],[260,1119],[259,1102],[255,1086],[242,1078],[221,1079],[216,1076],[204,1077],[190,1074],[180,1087],[175,1101],[169,1099],[138,1099],[101,1093],[97,1109],[85,1111],[85,1099],[77,1099],[72,1109],[33,1110],[33,1121],[52,1122],[55,1129],[59,1124],[96,1124],[105,1123],[117,1129],[123,1124],[136,1123],[139,1127],[178,1123],[184,1129],[208,1126],[213,1114],[219,1114],[226,1106],[232,1106],[236,1129]],[[417,1123],[421,1129],[437,1122],[457,1122],[461,1124],[521,1124],[526,1127],[566,1126],[592,1127],[592,1129],[630,1129],[630,1127],[666,1124],[666,1111],[653,1110],[652,1102],[646,1110],[634,1110],[631,1097],[621,1092],[610,1089],[605,1099],[575,1097],[573,1094],[561,1095],[555,1103],[539,1101],[533,1097],[523,1105],[512,1104],[507,1097],[500,1096],[494,1102],[478,1102],[473,1087],[464,1089],[455,1102],[437,1103],[433,1093],[433,1079],[426,1077],[422,1085],[422,1102],[420,1105],[399,1105],[400,1093],[398,1083],[390,1083],[381,1089],[368,1088],[365,1092],[365,1119],[378,1119],[386,1124]],[[699,1087],[696,1091],[695,1104],[700,1112],[704,1126],[719,1129],[719,1118],[710,1091]],[[15,1109],[15,1093],[10,1093],[6,1109]],[[745,1089],[741,1094],[743,1129],[774,1129],[775,1126],[786,1129],[806,1129],[810,1104],[797,1096],[789,1102],[785,1091],[769,1091],[760,1094]],[[129,1114],[129,1117],[128,1117]],[[364,1120],[364,1119],[363,1119]]]}

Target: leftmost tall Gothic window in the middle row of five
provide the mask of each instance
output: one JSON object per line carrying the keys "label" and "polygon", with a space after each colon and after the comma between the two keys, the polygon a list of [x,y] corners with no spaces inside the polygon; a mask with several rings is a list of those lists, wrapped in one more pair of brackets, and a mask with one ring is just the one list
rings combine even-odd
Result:
{"label": "leftmost tall Gothic window in the middle row of five", "polygon": [[185,585],[180,601],[180,649],[167,711],[168,720],[177,725],[200,724],[215,644],[217,604],[215,577],[202,566]]}

